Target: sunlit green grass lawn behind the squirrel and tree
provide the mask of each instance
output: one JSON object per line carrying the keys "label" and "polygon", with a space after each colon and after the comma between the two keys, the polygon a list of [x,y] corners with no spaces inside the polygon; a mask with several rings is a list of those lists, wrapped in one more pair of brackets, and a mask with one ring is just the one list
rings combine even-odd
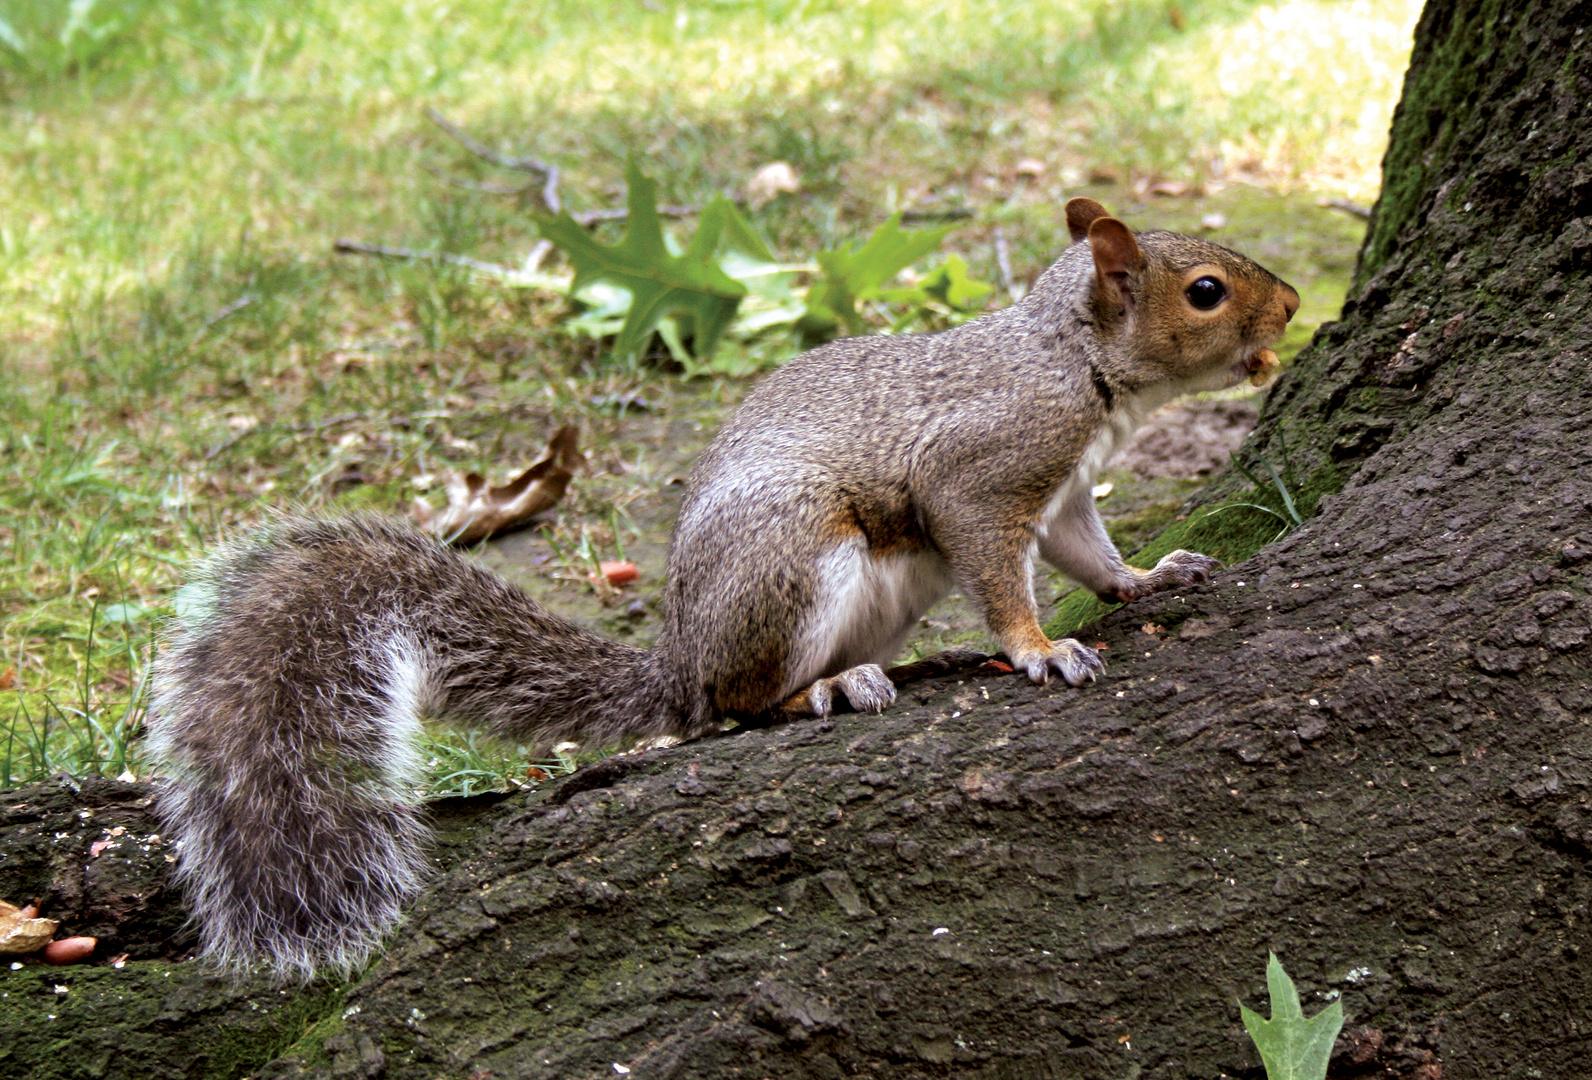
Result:
{"label": "sunlit green grass lawn behind the squirrel and tree", "polygon": [[[1415,8],[0,0],[0,787],[145,769],[170,591],[263,508],[398,508],[578,419],[594,475],[559,550],[662,543],[665,481],[740,382],[608,363],[551,293],[331,253],[350,237],[517,263],[535,241],[529,196],[462,186],[522,177],[425,105],[556,161],[576,210],[618,205],[632,156],[664,202],[697,205],[788,161],[801,193],[751,220],[793,260],[895,209],[955,209],[971,217],[947,250],[993,280],[1000,225],[1032,277],[1070,194],[1135,228],[1221,212],[1216,239],[1301,287],[1296,347],[1336,314],[1361,228],[1315,201],[1374,198]],[[1157,182],[1189,194],[1156,199]],[[790,354],[747,349],[748,370]],[[626,395],[650,409],[603,405]],[[654,610],[603,607],[562,562],[519,570],[650,634]],[[524,774],[514,747],[466,736],[428,757],[433,790]]]}

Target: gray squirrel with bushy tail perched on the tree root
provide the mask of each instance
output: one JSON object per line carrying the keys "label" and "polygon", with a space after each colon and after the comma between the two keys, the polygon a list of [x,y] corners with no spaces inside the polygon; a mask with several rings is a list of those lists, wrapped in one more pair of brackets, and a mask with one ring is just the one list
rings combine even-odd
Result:
{"label": "gray squirrel with bushy tail perched on the tree root", "polygon": [[1095,650],[1040,629],[1035,556],[1105,599],[1204,581],[1129,567],[1091,487],[1176,395],[1264,381],[1299,295],[1248,258],[1134,234],[1092,199],[1020,303],[834,341],[769,374],[691,475],[653,648],[607,640],[396,521],[282,518],[212,556],[154,666],[159,814],[201,951],[350,972],[427,871],[423,715],[517,742],[689,739],[726,718],[880,712],[952,588],[1035,683]]}

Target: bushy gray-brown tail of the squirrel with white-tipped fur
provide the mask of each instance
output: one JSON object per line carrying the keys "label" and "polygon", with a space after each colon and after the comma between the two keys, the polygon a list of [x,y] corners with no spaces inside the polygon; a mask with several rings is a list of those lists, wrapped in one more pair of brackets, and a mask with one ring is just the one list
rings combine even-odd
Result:
{"label": "bushy gray-brown tail of the squirrel with white-tipped fur", "polygon": [[202,953],[361,965],[419,892],[425,714],[533,745],[694,734],[654,653],[560,620],[379,518],[283,519],[213,556],[156,661],[150,749]]}

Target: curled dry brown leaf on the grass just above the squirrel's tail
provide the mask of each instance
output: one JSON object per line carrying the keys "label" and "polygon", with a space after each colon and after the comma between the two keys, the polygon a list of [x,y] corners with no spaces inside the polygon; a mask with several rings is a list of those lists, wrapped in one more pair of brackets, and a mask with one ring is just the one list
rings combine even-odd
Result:
{"label": "curled dry brown leaf on the grass just above the squirrel's tail", "polygon": [[414,518],[449,543],[478,543],[522,526],[557,505],[575,470],[586,465],[576,440],[573,424],[560,427],[540,462],[497,487],[487,486],[481,473],[455,473],[447,478],[447,507],[438,513],[425,499],[416,499]]}

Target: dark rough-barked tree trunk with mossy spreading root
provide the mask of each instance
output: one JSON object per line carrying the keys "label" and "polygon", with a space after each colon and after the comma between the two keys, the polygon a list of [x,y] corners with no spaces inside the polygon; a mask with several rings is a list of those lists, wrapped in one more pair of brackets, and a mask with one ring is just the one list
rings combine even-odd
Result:
{"label": "dark rough-barked tree trunk with mossy spreading root", "polygon": [[[1100,685],[973,672],[498,804],[258,1075],[1259,1077],[1267,949],[1342,997],[1333,1075],[1587,1075],[1582,27],[1428,5],[1356,290],[1250,451],[1317,516],[1091,629]],[[75,1016],[11,1061],[103,1042]]]}

